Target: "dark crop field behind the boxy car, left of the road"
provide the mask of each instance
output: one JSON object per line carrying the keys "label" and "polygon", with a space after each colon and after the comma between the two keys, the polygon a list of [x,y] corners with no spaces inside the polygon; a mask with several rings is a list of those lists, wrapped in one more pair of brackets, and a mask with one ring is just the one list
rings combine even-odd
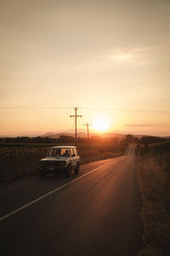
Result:
{"label": "dark crop field behind the boxy car, left of the road", "polygon": [[[56,145],[56,143],[0,143],[0,179],[38,174],[39,160],[46,156],[48,148]],[[84,164],[122,155],[125,148],[126,146],[121,143],[94,143],[90,149],[86,144],[79,145],[78,150]]]}

